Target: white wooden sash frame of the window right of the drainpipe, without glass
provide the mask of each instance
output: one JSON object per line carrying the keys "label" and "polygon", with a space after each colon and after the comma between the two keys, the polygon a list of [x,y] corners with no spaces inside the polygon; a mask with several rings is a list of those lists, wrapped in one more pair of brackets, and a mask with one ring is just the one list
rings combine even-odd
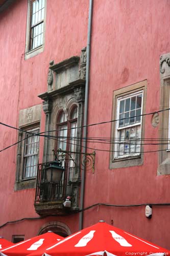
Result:
{"label": "white wooden sash frame of the window right of the drainpipe, without glass", "polygon": [[[131,125],[127,125],[127,126],[123,126],[123,127],[118,127],[119,126],[119,108],[120,108],[120,100],[122,99],[127,99],[133,96],[137,96],[142,94],[142,100],[141,100],[141,119],[139,123],[135,123],[135,124],[131,124]],[[130,127],[134,127],[134,126],[138,126],[140,125],[140,137],[141,138],[141,130],[142,130],[142,113],[143,113],[143,90],[142,91],[137,91],[134,93],[130,93],[128,95],[122,96],[122,97],[118,97],[117,98],[117,109],[116,109],[116,126],[115,126],[115,152],[114,152],[114,157],[113,159],[121,159],[121,158],[129,158],[129,157],[135,157],[135,156],[140,156],[141,154],[141,146],[140,146],[140,152],[139,153],[132,153],[132,154],[127,154],[127,155],[123,155],[123,156],[118,156],[118,131],[123,130],[123,129],[127,129]],[[138,141],[138,143],[141,143],[141,140]]]}

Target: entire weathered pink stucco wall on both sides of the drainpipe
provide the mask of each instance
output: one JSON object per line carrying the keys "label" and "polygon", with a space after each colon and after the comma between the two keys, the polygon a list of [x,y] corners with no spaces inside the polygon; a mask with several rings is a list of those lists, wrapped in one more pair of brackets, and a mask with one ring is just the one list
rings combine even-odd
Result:
{"label": "entire weathered pink stucco wall on both sides of the drainpipe", "polygon": [[[170,52],[168,0],[94,0],[91,37],[88,123],[112,118],[113,91],[147,79],[146,113],[159,110],[159,56]],[[87,44],[88,0],[47,0],[44,52],[25,60],[27,1],[17,1],[0,20],[0,116],[1,122],[18,126],[19,110],[41,103],[46,91],[49,61],[55,63],[80,55]],[[97,99],[97,100],[96,100]],[[45,116],[42,113],[41,131]],[[158,135],[159,126],[145,117],[145,138]],[[0,150],[17,140],[17,131],[0,125]],[[88,127],[88,137],[111,136],[111,123]],[[109,144],[88,147],[110,150]],[[145,145],[144,151],[158,150]],[[89,150],[90,152],[91,150]],[[14,192],[17,146],[0,153],[0,226],[5,222],[36,217],[34,189]],[[40,162],[43,140],[40,141]],[[157,176],[158,153],[145,153],[143,165],[109,169],[109,152],[97,151],[94,174],[86,172],[85,204],[168,203],[169,176]],[[170,206],[153,206],[153,217],[144,216],[144,206],[92,207],[84,212],[84,227],[104,219],[119,228],[170,249]],[[23,221],[0,228],[12,234],[35,236],[48,221],[61,221],[78,230],[79,215]],[[32,228],[30,228],[32,225]],[[27,230],[27,233],[25,232]]]}

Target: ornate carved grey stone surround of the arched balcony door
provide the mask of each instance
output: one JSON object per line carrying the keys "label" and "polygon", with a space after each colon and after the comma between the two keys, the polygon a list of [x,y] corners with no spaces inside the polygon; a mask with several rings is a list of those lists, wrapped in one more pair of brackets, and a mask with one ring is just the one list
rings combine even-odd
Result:
{"label": "ornate carved grey stone surround of the arched balcony door", "polygon": [[[58,116],[62,112],[65,113],[67,121],[71,114],[72,108],[77,106],[77,137],[81,138],[83,135],[83,118],[84,118],[84,96],[85,96],[85,75],[86,75],[86,48],[82,49],[81,57],[72,56],[57,64],[50,61],[50,67],[47,77],[47,91],[39,95],[43,100],[43,111],[46,115],[45,132],[52,131],[48,135],[56,136],[56,128]],[[46,133],[47,134],[47,133]],[[56,139],[44,139],[43,162],[50,162],[55,159],[53,150],[56,150]],[[76,151],[81,152],[81,140],[76,142]],[[80,166],[81,154],[76,154],[75,161],[77,166]],[[66,170],[68,172],[68,170]],[[79,188],[80,188],[80,172],[79,168],[75,168],[74,175],[69,182],[71,186],[71,209],[79,208]],[[65,192],[64,192],[65,193]],[[67,191],[66,191],[67,194]],[[60,212],[62,206],[58,202],[52,202],[53,210]],[[62,204],[62,202],[61,202]],[[48,202],[51,205],[51,202]],[[40,215],[48,212],[45,204],[35,204],[36,212]],[[62,210],[64,212],[64,209]]]}

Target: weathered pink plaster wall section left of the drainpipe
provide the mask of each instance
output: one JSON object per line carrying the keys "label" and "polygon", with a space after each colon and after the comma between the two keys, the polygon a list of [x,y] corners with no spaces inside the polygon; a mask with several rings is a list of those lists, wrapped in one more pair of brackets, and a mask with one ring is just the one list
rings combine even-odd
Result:
{"label": "weathered pink plaster wall section left of the drainpipe", "polygon": [[[71,56],[80,56],[86,46],[88,1],[47,0],[46,31],[44,52],[25,60],[27,26],[27,0],[16,1],[1,13],[0,22],[0,116],[1,122],[18,127],[19,110],[41,104],[37,95],[47,90],[49,61],[60,62]],[[41,132],[44,131],[45,115],[41,115]],[[0,150],[17,141],[16,130],[0,125]],[[0,153],[0,226],[8,221],[37,217],[34,209],[35,189],[14,192],[17,145]],[[42,161],[43,139],[40,140]],[[71,232],[78,229],[72,217],[57,218],[66,223]],[[56,218],[54,218],[56,220]],[[12,234],[25,234],[25,238],[37,234],[40,222],[30,221],[6,225],[0,234],[11,240]],[[29,229],[32,223],[32,229]],[[36,223],[36,224],[35,224]],[[26,233],[27,230],[27,233]]]}

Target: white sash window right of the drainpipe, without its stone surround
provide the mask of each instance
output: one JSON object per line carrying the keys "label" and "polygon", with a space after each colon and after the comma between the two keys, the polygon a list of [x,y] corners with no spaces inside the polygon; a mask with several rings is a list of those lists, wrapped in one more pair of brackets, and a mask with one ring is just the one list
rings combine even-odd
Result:
{"label": "white sash window right of the drainpipe, without its stone surround", "polygon": [[142,97],[141,91],[117,99],[118,121],[114,157],[127,157],[140,153]]}

